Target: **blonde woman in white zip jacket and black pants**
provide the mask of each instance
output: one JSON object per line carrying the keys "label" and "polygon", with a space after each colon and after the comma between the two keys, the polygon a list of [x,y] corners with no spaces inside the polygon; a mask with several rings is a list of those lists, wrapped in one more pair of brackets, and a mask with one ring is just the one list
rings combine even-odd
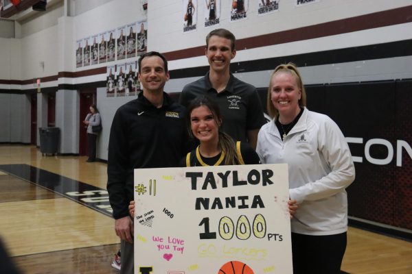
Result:
{"label": "blonde woman in white zip jacket and black pants", "polygon": [[273,121],[260,129],[256,151],[262,164],[287,163],[293,273],[340,273],[346,249],[345,188],[355,169],[341,129],[328,116],[309,111],[294,64],[277,66],[268,88]]}

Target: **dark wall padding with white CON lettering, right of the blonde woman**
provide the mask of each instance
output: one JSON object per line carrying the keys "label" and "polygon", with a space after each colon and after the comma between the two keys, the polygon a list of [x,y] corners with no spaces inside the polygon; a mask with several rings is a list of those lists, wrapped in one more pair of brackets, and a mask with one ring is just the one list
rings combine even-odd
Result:
{"label": "dark wall padding with white CON lettering, right of the blonde woman", "polygon": [[[308,108],[330,116],[345,137],[363,138],[350,143],[356,162],[355,182],[347,188],[349,215],[405,229],[412,229],[411,156],[403,149],[402,166],[396,166],[397,140],[412,147],[412,81],[368,82],[307,86]],[[365,144],[385,139],[393,147],[389,164],[370,163]],[[372,158],[385,159],[387,147],[372,145]]]}

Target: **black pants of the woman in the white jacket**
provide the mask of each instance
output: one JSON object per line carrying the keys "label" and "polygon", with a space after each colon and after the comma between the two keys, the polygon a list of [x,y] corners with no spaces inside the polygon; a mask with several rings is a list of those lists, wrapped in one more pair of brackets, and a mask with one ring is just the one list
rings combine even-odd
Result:
{"label": "black pants of the woman in the white jacket", "polygon": [[346,232],[310,236],[292,233],[293,274],[339,274],[346,249]]}

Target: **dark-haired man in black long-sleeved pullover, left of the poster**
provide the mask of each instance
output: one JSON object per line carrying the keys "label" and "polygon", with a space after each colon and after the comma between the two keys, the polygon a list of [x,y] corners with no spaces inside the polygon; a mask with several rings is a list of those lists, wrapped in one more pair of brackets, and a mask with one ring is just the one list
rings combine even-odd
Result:
{"label": "dark-haired man in black long-sleeved pullover, left of the poster", "polygon": [[120,273],[134,273],[133,221],[128,205],[133,200],[133,170],[179,166],[187,153],[185,108],[163,92],[169,79],[168,62],[158,52],[139,58],[143,92],[116,112],[108,142],[107,191],[115,231],[121,239]]}

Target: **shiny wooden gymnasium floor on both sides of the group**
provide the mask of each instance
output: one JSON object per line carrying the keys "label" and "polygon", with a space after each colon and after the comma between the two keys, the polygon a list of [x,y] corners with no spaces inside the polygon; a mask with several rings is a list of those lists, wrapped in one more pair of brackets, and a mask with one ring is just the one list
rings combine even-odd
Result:
{"label": "shiny wooden gymnasium floor on both sides of the group", "polygon": [[[0,238],[23,274],[118,273],[106,164],[86,160],[0,145]],[[411,274],[412,242],[350,227],[342,270]]]}

